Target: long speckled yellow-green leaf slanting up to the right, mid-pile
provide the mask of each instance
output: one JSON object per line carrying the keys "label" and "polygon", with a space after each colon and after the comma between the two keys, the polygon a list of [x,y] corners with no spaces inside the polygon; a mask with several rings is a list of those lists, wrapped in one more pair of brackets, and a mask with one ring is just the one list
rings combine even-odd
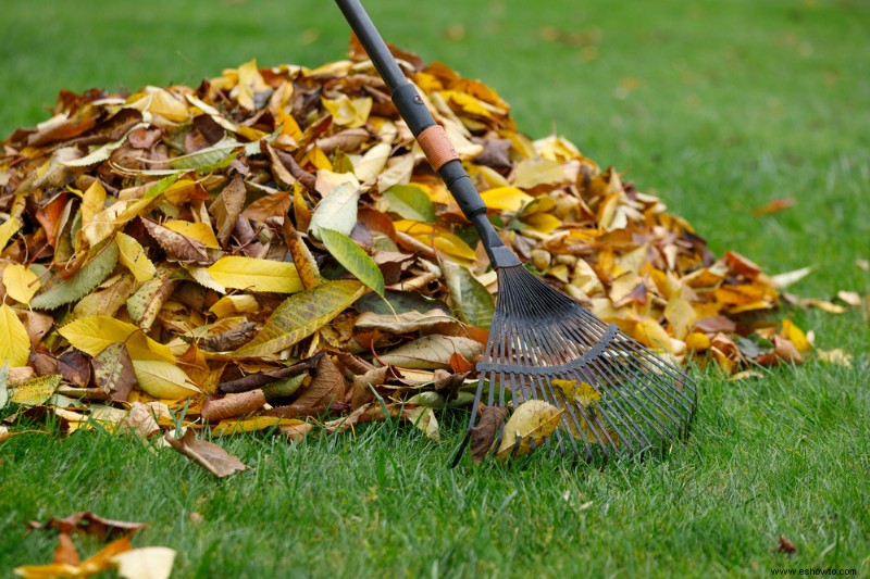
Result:
{"label": "long speckled yellow-green leaf slanting up to the right, mid-pile", "polygon": [[232,355],[265,356],[289,348],[335,319],[364,291],[356,279],[338,279],[295,293],[275,310],[253,340]]}

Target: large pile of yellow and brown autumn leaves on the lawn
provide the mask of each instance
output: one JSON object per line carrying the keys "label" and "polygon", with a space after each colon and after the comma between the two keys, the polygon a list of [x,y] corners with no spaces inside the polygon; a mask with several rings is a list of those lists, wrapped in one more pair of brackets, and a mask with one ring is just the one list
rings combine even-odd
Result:
{"label": "large pile of yellow and brown autumn leaves on the lawn", "polygon": [[[680,362],[807,354],[758,316],[780,294],[753,262],[564,138],[518,133],[484,84],[395,53],[548,284]],[[3,144],[0,407],[300,439],[386,416],[435,438],[433,408],[470,404],[496,274],[358,45],[315,70],[62,91]],[[226,474],[195,442],[167,441]]]}

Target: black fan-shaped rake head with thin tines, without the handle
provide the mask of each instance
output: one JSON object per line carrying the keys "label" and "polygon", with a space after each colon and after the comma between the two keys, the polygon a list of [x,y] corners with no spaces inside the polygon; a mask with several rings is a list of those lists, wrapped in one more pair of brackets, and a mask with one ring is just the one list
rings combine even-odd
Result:
{"label": "black fan-shaped rake head with thin tines, without the handle", "polygon": [[498,268],[489,337],[470,431],[482,403],[515,408],[529,400],[561,411],[544,443],[588,462],[663,449],[688,431],[692,379],[522,265]]}

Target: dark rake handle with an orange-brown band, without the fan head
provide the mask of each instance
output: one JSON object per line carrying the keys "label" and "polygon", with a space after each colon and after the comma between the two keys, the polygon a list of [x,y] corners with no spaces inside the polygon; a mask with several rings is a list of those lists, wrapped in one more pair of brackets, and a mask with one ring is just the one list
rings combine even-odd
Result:
{"label": "dark rake handle with an orange-brown band, without the fan head", "polygon": [[360,39],[377,74],[384,79],[393,103],[420,143],[432,167],[444,179],[459,209],[474,224],[489,261],[495,267],[521,265],[520,259],[505,246],[486,218],[486,204],[462,167],[450,139],[428,112],[417,88],[406,78],[365,9],[359,0],[335,0],[335,3]]}

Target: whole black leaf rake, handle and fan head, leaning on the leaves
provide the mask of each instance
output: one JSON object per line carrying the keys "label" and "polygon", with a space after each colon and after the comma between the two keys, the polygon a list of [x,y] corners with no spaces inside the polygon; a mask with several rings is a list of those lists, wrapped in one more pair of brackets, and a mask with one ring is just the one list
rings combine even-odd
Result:
{"label": "whole black leaf rake, handle and fan head, leaning on the leaves", "polygon": [[[684,437],[697,401],[692,379],[523,266],[496,234],[444,128],[406,78],[365,10],[358,0],[336,3],[430,164],[477,230],[498,274],[489,339],[476,365],[477,391],[453,466],[487,407],[519,407],[532,400],[545,401],[560,412],[558,426],[539,445],[550,444],[589,462],[664,450]],[[506,412],[497,415],[504,421]],[[520,435],[514,436],[513,448],[519,449]],[[535,438],[530,442],[534,450]]]}

